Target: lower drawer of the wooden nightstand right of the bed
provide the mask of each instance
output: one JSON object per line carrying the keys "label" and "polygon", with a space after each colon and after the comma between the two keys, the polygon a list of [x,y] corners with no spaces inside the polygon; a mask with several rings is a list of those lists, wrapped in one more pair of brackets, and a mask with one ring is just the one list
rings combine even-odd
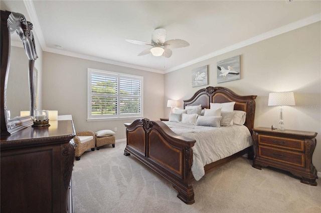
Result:
{"label": "lower drawer of the wooden nightstand right of the bed", "polygon": [[304,167],[304,154],[293,151],[286,151],[279,148],[260,146],[259,156],[268,159],[285,162],[288,164]]}

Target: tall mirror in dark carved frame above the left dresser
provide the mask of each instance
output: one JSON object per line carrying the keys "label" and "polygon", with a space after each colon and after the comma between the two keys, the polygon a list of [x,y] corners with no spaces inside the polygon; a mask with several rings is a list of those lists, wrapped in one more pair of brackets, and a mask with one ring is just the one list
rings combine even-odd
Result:
{"label": "tall mirror in dark carved frame above the left dresser", "polygon": [[[10,135],[29,125],[32,125],[32,117],[35,111],[35,60],[38,58],[35,40],[32,33],[33,24],[26,20],[21,13],[3,11],[1,10],[1,135]],[[15,49],[10,46],[11,33],[19,35],[24,45],[25,55],[27,55],[27,62],[22,62],[22,58],[11,58],[11,51],[16,51],[18,55],[21,54],[21,49]],[[19,52],[20,51],[20,52]],[[10,61],[13,63],[10,63]],[[18,63],[18,64],[17,64]],[[28,64],[28,65],[27,65]],[[19,72],[15,73],[10,69],[10,66],[17,69]],[[18,67],[17,67],[18,66]],[[26,67],[27,66],[27,67]],[[27,71],[28,70],[28,71]],[[23,75],[28,75],[25,81],[19,82],[19,78],[23,79]],[[9,78],[14,78],[14,80]],[[10,82],[10,86],[8,86]],[[12,83],[13,82],[13,83]],[[13,84],[13,85],[12,85]],[[23,87],[24,86],[24,87]],[[14,91],[13,91],[14,90]],[[23,91],[28,91],[23,93]],[[8,92],[8,93],[7,93]],[[12,97],[7,99],[7,95],[15,94],[15,100]],[[21,97],[18,97],[21,95]],[[19,99],[19,102],[16,100]],[[20,100],[25,99],[23,102]],[[7,101],[8,100],[8,101]],[[7,105],[9,104],[9,105]],[[16,106],[19,105],[19,108]],[[28,106],[29,105],[29,106]],[[13,114],[11,113],[11,108]],[[20,116],[21,110],[30,111],[27,116]]]}

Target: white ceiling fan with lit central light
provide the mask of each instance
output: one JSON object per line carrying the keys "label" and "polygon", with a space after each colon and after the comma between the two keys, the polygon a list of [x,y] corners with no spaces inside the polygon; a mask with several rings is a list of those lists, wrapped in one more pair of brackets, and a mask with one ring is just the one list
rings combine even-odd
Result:
{"label": "white ceiling fan with lit central light", "polygon": [[140,52],[138,56],[145,55],[151,52],[151,54],[154,56],[163,55],[164,57],[171,57],[172,56],[171,49],[190,45],[189,42],[182,39],[166,40],[166,29],[164,28],[157,28],[152,31],[150,43],[145,41],[140,41],[140,40],[131,40],[131,39],[126,39],[126,41],[134,44],[151,46],[150,48]]}

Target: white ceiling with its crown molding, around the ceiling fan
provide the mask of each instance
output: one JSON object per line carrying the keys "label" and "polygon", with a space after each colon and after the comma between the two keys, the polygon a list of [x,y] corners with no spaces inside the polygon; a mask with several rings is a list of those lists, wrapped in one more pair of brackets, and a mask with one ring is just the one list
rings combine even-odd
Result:
{"label": "white ceiling with its crown molding, around the ceiling fan", "polygon": [[[320,0],[1,0],[1,9],[23,13],[44,51],[161,73],[321,20]],[[125,41],[149,42],[159,27],[190,46],[137,56],[148,46]]]}

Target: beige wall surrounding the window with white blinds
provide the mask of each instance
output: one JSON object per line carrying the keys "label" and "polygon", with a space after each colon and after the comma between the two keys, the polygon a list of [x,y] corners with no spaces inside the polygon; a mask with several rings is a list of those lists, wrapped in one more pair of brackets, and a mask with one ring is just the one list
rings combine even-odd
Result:
{"label": "beige wall surrounding the window with white blinds", "polygon": [[55,53],[43,54],[43,109],[72,114],[76,131],[114,130],[116,140],[126,138],[124,123],[134,119],[87,121],[87,68],[143,76],[144,117],[159,119],[164,115],[164,74],[117,66]]}

